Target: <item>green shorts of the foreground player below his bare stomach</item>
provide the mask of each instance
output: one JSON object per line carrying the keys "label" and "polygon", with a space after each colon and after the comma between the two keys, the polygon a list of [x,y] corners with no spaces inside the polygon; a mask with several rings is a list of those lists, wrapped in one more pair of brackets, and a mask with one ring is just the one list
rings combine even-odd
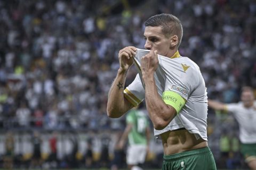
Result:
{"label": "green shorts of the foreground player below his bare stomach", "polygon": [[162,170],[215,170],[216,165],[209,147],[164,155]]}

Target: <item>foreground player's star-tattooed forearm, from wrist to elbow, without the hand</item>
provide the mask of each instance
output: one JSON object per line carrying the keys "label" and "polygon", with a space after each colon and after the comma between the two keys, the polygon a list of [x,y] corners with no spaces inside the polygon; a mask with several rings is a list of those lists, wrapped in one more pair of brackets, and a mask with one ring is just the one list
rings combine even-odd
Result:
{"label": "foreground player's star-tattooed forearm, from wrist to elbow, without the hand", "polygon": [[123,92],[126,74],[127,70],[123,71],[119,69],[109,90],[107,103],[107,114],[109,117],[117,118],[127,112],[125,111],[125,99]]}

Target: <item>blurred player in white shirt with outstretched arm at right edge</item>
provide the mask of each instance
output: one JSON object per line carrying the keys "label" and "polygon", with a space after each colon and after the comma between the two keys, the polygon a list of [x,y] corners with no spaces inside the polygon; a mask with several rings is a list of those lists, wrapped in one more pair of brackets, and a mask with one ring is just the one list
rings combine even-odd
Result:
{"label": "blurred player in white shirt with outstretched arm at right edge", "polygon": [[239,140],[245,162],[251,169],[256,169],[256,101],[253,89],[243,87],[241,101],[238,103],[223,104],[209,99],[208,105],[215,110],[234,114],[239,124]]}

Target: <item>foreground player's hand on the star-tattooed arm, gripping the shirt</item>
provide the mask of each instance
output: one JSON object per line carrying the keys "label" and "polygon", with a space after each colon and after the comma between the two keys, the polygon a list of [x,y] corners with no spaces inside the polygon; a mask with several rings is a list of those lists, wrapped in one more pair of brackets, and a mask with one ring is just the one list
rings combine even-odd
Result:
{"label": "foreground player's hand on the star-tattooed arm, gripping the shirt", "polygon": [[118,59],[120,64],[120,69],[126,71],[133,64],[132,57],[136,54],[136,47],[129,46],[119,50]]}

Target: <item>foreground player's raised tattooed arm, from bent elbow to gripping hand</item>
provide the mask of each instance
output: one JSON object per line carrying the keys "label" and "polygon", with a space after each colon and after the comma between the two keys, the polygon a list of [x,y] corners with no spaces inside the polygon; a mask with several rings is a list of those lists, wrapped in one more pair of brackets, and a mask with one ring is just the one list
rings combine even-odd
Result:
{"label": "foreground player's raised tattooed arm, from bent elbow to gripping hand", "polygon": [[133,107],[125,99],[123,91],[126,74],[133,64],[132,56],[135,55],[136,50],[135,47],[125,47],[119,51],[118,59],[120,67],[108,93],[107,114],[109,117],[121,117]]}

